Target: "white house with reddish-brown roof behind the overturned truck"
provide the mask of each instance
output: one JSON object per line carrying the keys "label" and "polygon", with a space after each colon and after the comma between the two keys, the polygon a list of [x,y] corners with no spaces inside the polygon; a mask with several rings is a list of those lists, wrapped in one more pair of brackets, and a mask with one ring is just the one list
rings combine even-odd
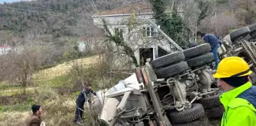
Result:
{"label": "white house with reddish-brown roof behind the overturned truck", "polygon": [[[139,65],[145,65],[146,58],[154,60],[173,52],[174,49],[168,43],[168,40],[159,35],[158,30],[152,24],[149,24],[149,19],[155,22],[153,14],[152,5],[149,3],[134,2],[123,8],[99,12],[92,15],[92,17],[94,25],[101,28],[104,28],[102,20],[106,20],[110,33],[118,33],[133,48]],[[130,34],[131,32],[127,25],[131,17],[136,17],[136,20],[140,22],[133,30],[133,32],[137,33],[133,35]],[[141,31],[140,35],[138,31]]]}

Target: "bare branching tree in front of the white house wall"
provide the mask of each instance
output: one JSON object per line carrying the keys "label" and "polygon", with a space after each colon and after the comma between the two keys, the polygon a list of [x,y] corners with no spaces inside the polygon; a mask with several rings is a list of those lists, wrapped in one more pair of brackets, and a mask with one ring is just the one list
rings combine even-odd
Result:
{"label": "bare branching tree in front of the white house wall", "polygon": [[146,25],[146,20],[136,18],[135,14],[132,14],[129,19],[121,20],[120,26],[122,27],[119,28],[112,27],[107,20],[103,19],[102,22],[106,31],[107,49],[115,57],[111,61],[117,60],[119,63],[125,63],[121,65],[121,68],[131,66],[131,64],[139,66],[135,52],[138,52],[139,48],[149,48],[155,45],[155,42],[150,41],[145,34],[155,34],[154,31],[142,29]]}

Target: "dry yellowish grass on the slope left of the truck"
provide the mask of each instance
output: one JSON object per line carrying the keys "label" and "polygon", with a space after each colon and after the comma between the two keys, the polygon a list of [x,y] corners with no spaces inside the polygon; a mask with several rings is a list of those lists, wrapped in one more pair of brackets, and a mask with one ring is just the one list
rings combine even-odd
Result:
{"label": "dry yellowish grass on the slope left of the truck", "polygon": [[[89,58],[78,59],[78,62],[82,62],[82,65],[91,65],[98,61],[98,56],[91,56]],[[36,87],[27,88],[29,92],[34,93],[34,103],[40,104],[43,108],[43,121],[46,122],[46,126],[72,126],[75,115],[75,99],[73,94],[59,95],[57,90],[53,88],[52,84],[58,85],[62,83],[62,79],[65,79],[70,71],[71,66],[66,63],[57,65],[54,68],[48,68],[43,71],[34,74],[34,80]],[[43,87],[42,87],[42,85]],[[14,88],[13,90],[18,90]],[[4,93],[10,93],[13,91],[6,88],[1,90]],[[18,107],[15,105],[11,109],[5,112],[0,112],[0,125],[1,126],[20,126],[24,125],[26,118],[31,114],[28,108],[22,110],[25,112],[18,112]],[[22,106],[22,105],[21,105]],[[29,105],[26,105],[29,106]],[[86,108],[86,106],[85,106]],[[88,116],[87,111],[84,112],[85,117]],[[91,118],[86,119],[87,122],[91,121]]]}

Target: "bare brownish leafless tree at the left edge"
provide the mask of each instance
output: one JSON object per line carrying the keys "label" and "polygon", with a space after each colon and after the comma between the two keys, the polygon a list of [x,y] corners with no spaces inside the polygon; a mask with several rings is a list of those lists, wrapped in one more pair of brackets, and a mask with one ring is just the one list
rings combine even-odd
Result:
{"label": "bare brownish leafless tree at the left edge", "polygon": [[[43,46],[37,44],[36,33],[30,33],[24,39],[13,36],[10,40],[11,50],[0,57],[0,73],[4,74],[1,80],[20,83],[26,96],[25,88],[33,84],[32,75],[45,59]],[[24,44],[21,44],[22,41]]]}

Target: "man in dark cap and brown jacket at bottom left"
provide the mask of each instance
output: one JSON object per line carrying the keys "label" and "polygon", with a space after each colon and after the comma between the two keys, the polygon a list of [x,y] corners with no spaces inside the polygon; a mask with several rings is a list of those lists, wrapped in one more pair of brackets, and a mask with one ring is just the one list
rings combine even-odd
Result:
{"label": "man in dark cap and brown jacket at bottom left", "polygon": [[33,105],[31,107],[33,114],[27,119],[27,126],[40,126],[42,120],[40,115],[42,114],[42,108],[40,105]]}

